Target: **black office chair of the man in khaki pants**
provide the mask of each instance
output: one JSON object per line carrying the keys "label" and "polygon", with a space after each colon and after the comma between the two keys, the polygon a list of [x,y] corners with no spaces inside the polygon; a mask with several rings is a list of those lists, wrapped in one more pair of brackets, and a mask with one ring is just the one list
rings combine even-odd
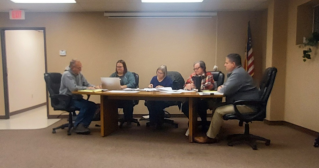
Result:
{"label": "black office chair of the man in khaki pants", "polygon": [[[259,84],[259,93],[260,100],[259,101],[251,101],[251,100],[238,100],[233,103],[235,113],[226,114],[223,116],[224,120],[239,120],[239,126],[243,125],[245,122],[245,131],[244,134],[234,134],[230,135],[228,146],[233,146],[234,144],[239,144],[241,142],[246,142],[251,146],[254,150],[257,150],[256,141],[264,141],[265,145],[270,145],[270,140],[249,134],[249,122],[252,121],[263,121],[266,118],[266,106],[267,101],[270,96],[272,86],[275,81],[277,69],[275,67],[267,68],[263,74],[263,78]],[[255,108],[253,113],[240,113],[237,109],[237,105],[246,105],[252,106]]]}

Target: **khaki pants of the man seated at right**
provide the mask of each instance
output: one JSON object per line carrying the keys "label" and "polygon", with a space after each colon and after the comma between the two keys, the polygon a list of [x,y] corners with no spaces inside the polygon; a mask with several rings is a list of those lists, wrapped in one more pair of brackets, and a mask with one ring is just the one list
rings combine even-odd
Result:
{"label": "khaki pants of the man seated at right", "polygon": [[[249,108],[245,105],[237,106],[237,109],[240,113],[252,113],[253,109]],[[215,138],[216,135],[219,133],[220,127],[223,124],[223,116],[225,114],[235,113],[233,105],[225,105],[221,107],[217,107],[213,117],[211,118],[211,125],[206,133],[206,135],[210,138]]]}

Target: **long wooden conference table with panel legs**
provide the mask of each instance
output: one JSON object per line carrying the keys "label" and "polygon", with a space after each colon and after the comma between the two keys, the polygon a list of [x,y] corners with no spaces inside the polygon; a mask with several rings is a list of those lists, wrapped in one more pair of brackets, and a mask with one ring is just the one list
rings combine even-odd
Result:
{"label": "long wooden conference table with panel legs", "polygon": [[199,95],[197,92],[170,94],[159,91],[139,91],[137,93],[78,92],[73,94],[100,95],[101,99],[101,136],[110,135],[118,127],[116,100],[162,100],[189,101],[189,142],[193,142],[194,125],[197,122],[197,109],[194,108],[200,98],[222,98],[222,95]]}

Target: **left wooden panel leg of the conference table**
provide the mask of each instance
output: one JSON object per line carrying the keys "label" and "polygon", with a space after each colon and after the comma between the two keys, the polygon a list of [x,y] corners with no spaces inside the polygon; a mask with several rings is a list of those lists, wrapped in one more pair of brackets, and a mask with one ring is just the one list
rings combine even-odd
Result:
{"label": "left wooden panel leg of the conference table", "polygon": [[110,135],[117,128],[116,100],[101,96],[101,136]]}

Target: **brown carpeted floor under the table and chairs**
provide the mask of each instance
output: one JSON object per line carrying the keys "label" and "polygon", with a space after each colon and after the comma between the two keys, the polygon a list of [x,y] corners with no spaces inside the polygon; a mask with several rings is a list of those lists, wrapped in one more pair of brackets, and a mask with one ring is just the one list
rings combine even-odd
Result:
{"label": "brown carpeted floor under the table and chairs", "polygon": [[[0,130],[0,167],[319,167],[315,136],[286,126],[253,122],[250,132],[271,139],[271,145],[228,147],[189,143],[184,135],[186,118],[175,118],[179,128],[163,130],[141,127],[119,128],[100,137],[100,128],[91,124],[91,135],[52,134],[65,119],[37,130]],[[221,137],[242,133],[237,121],[226,121]]]}

